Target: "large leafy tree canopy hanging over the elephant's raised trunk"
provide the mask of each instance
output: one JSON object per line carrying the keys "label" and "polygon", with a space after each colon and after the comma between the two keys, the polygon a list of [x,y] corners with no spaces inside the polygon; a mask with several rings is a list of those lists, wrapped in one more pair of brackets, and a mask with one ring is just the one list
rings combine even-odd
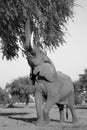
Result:
{"label": "large leafy tree canopy hanging over the elephant's raised trunk", "polygon": [[[74,0],[0,0],[0,40],[3,57],[18,57],[23,46],[26,21],[34,31],[34,41],[42,49],[62,45],[65,23],[73,16]],[[28,36],[27,36],[28,37]]]}

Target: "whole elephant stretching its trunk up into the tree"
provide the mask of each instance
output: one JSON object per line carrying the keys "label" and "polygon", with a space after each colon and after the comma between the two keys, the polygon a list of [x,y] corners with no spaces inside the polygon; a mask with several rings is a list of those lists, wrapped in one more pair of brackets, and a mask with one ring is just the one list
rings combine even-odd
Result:
{"label": "whole elephant stretching its trunk up into the tree", "polygon": [[[37,44],[34,44],[34,32],[30,30],[30,26],[26,28],[24,48],[28,64],[31,67],[31,80],[35,87],[37,112],[35,124],[48,124],[50,121],[49,112],[55,104],[59,107],[61,120],[64,118],[63,106],[66,104],[71,111],[72,122],[76,123],[78,120],[74,108],[74,86],[71,78],[56,71],[51,59]],[[46,98],[44,107],[42,105],[43,97]]]}

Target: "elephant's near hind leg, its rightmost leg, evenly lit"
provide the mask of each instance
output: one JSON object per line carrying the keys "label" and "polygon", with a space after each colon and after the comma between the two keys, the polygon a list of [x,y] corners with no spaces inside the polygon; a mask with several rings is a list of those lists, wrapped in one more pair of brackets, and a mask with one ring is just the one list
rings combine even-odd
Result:
{"label": "elephant's near hind leg, its rightmost leg, evenly lit", "polygon": [[69,107],[71,114],[72,114],[73,123],[77,123],[78,120],[77,120],[76,111],[74,108],[74,92],[71,92],[68,96],[68,107]]}

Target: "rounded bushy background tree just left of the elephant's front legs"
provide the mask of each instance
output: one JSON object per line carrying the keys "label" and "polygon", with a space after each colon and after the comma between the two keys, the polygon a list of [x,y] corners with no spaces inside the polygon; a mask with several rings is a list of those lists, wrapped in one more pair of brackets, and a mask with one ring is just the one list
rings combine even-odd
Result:
{"label": "rounded bushy background tree just left of the elephant's front legs", "polygon": [[8,93],[11,95],[11,103],[29,102],[29,94],[33,93],[33,86],[29,77],[20,77],[12,83],[6,85]]}

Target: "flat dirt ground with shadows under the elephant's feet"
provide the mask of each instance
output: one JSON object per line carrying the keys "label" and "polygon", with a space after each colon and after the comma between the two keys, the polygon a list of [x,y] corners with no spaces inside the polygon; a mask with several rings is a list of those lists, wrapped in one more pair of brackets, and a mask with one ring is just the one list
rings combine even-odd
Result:
{"label": "flat dirt ground with shadows under the elephant's feet", "polygon": [[78,125],[71,122],[71,114],[64,124],[59,122],[58,108],[50,111],[50,123],[46,126],[36,126],[35,107],[29,105],[24,108],[0,108],[0,130],[87,130],[87,109],[76,109]]}

